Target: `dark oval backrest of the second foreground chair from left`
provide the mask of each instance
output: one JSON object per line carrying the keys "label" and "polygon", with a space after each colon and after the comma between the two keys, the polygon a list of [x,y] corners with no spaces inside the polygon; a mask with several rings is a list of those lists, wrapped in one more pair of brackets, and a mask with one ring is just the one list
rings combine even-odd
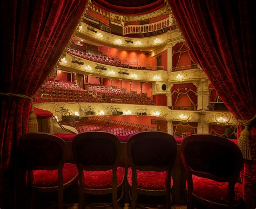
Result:
{"label": "dark oval backrest of the second foreground chair from left", "polygon": [[121,156],[119,139],[104,131],[78,134],[73,139],[72,149],[77,166],[84,170],[117,168]]}

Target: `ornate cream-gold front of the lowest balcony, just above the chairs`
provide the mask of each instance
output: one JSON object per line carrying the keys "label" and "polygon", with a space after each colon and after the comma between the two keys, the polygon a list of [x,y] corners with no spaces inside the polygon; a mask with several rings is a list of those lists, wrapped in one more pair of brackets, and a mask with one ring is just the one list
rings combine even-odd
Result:
{"label": "ornate cream-gold front of the lowest balcony, just above the chairs", "polygon": [[[47,102],[47,103],[36,103],[34,105],[37,108],[49,110],[53,113],[53,115],[58,116],[61,119],[61,113],[56,112],[55,110],[59,110],[61,107],[69,109],[70,114],[75,114],[75,112],[79,112],[80,108],[88,108],[90,106],[96,112],[96,115],[99,115],[101,110],[104,111],[105,115],[111,115],[112,108],[119,108],[122,112],[127,112],[130,110],[131,114],[129,115],[137,115],[138,109],[145,109],[147,115],[156,116],[156,112],[158,112],[159,117],[165,118],[167,121],[182,121],[180,119],[180,115],[189,115],[187,122],[205,122],[211,124],[218,124],[215,120],[216,114],[220,114],[221,112],[210,112],[210,111],[191,111],[191,110],[171,110],[166,106],[143,106],[143,105],[129,105],[129,104],[114,104],[114,103],[78,103],[78,102]],[[237,120],[233,117],[233,115],[229,112],[225,113],[230,115],[230,120],[225,123],[225,125],[236,126]]]}

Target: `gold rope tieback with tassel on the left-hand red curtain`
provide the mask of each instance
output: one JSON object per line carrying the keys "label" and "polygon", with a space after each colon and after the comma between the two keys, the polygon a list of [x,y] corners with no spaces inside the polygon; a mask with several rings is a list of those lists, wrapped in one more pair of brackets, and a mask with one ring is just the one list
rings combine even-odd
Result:
{"label": "gold rope tieback with tassel on the left-hand red curtain", "polygon": [[31,102],[31,110],[29,114],[29,132],[37,132],[38,131],[38,123],[36,119],[36,115],[34,113],[34,108],[33,108],[33,99],[29,96],[23,95],[23,94],[12,94],[12,93],[1,93],[0,95],[4,96],[17,96],[26,100],[29,100]]}

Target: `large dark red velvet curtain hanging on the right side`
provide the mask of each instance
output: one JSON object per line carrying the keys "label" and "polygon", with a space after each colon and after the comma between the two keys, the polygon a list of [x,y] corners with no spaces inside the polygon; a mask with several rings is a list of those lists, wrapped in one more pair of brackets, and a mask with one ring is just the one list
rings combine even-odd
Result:
{"label": "large dark red velvet curtain hanging on the right side", "polygon": [[[236,119],[255,115],[255,2],[169,0],[186,43]],[[239,134],[238,127],[238,134]],[[250,126],[252,161],[245,161],[244,201],[256,203],[256,128]]]}

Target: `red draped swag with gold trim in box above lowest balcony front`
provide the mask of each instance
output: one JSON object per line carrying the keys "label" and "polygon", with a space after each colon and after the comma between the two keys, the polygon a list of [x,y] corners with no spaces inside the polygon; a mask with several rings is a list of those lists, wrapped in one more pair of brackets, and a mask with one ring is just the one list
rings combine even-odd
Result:
{"label": "red draped swag with gold trim in box above lowest balcony front", "polygon": [[193,83],[180,83],[174,84],[171,89],[172,106],[174,106],[178,100],[180,94],[187,94],[188,98],[194,106],[197,106],[197,87]]}

